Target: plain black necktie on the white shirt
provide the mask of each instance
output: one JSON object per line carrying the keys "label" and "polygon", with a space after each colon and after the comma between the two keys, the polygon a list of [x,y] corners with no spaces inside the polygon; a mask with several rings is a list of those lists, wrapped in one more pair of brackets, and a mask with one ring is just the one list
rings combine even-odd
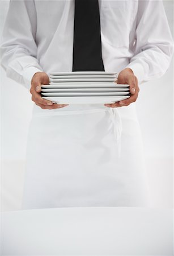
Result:
{"label": "plain black necktie on the white shirt", "polygon": [[73,71],[104,71],[98,0],[75,0]]}

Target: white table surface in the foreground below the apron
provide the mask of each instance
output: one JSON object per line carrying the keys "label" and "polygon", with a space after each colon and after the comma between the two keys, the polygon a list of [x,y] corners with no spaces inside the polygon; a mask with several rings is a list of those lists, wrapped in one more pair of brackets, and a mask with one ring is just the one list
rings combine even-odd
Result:
{"label": "white table surface in the foreground below the apron", "polygon": [[1,218],[1,255],[173,255],[172,209],[49,208]]}

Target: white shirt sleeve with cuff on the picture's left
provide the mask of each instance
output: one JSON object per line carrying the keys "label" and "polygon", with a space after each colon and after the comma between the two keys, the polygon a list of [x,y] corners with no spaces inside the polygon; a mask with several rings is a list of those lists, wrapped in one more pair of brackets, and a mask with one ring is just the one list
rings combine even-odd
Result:
{"label": "white shirt sleeve with cuff on the picture's left", "polygon": [[43,72],[37,60],[36,10],[32,0],[11,0],[2,32],[1,65],[7,77],[31,88],[36,72]]}

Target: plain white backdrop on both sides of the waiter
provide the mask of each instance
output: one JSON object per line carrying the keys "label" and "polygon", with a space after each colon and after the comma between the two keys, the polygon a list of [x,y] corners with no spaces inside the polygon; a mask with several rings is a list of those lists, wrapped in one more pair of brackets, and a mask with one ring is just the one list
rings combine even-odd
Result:
{"label": "plain white backdrop on both sides of the waiter", "polygon": [[[174,2],[163,1],[173,35]],[[9,0],[1,1],[1,33]],[[162,31],[163,32],[163,31]],[[33,102],[24,86],[1,69],[2,210],[20,209]],[[126,108],[126,107],[125,107]],[[137,112],[142,129],[152,207],[173,205],[173,60],[165,75],[140,85]]]}

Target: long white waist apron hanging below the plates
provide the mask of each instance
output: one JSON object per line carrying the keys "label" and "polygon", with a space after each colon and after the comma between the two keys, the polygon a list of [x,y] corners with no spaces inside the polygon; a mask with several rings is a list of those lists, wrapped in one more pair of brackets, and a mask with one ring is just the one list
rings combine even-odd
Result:
{"label": "long white waist apron hanging below the plates", "polygon": [[22,209],[148,207],[149,199],[135,103],[34,105]]}

